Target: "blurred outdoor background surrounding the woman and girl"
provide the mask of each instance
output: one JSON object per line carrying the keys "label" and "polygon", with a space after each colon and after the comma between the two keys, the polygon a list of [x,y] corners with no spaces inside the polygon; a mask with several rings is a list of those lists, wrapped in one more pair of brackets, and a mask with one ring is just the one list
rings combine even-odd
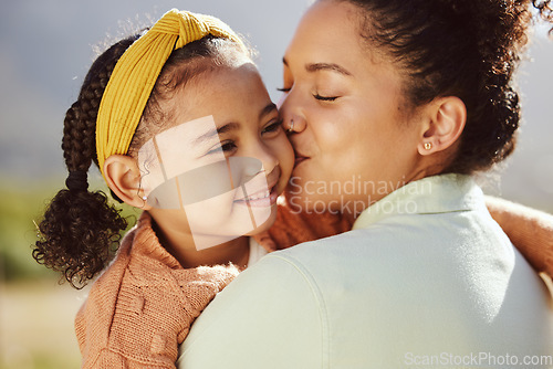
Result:
{"label": "blurred outdoor background surrounding the woman and girl", "polygon": [[[278,101],[281,57],[307,0],[42,0],[0,3],[0,368],[75,368],[73,318],[86,297],[31,257],[33,222],[63,187],[63,117],[96,50],[170,8],[221,18],[259,51]],[[553,212],[553,41],[538,28],[519,73],[518,151],[486,178],[489,193]],[[501,175],[501,177],[499,177]],[[103,188],[97,171],[92,189]],[[125,209],[127,214],[133,211]]]}

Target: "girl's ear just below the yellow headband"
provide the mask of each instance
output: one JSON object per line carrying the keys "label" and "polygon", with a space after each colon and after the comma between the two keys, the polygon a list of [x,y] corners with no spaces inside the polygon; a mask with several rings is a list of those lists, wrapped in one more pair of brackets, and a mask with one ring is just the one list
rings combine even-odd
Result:
{"label": "girl's ear just below the yellow headband", "polygon": [[104,178],[109,189],[126,204],[149,210],[140,188],[140,170],[136,160],[125,155],[112,155],[104,162]]}

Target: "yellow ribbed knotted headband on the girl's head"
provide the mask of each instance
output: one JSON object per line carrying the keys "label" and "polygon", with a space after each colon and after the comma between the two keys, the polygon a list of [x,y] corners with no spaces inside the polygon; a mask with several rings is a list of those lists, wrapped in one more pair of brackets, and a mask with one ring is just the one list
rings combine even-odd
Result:
{"label": "yellow ribbed knotted headband on the girl's head", "polygon": [[170,53],[208,34],[242,45],[240,38],[221,20],[171,9],[121,56],[102,96],[96,118],[96,152],[102,175],[106,158],[127,152]]}

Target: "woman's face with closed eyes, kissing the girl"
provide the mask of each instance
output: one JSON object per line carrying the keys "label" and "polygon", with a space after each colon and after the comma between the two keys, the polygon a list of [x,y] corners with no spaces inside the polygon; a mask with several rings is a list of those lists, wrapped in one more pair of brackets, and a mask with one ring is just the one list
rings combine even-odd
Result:
{"label": "woman's face with closed eyes, kissing the girl", "polygon": [[316,2],[283,59],[280,109],[286,128],[294,122],[296,156],[288,197],[301,211],[357,214],[420,176],[420,131],[401,78],[364,43],[357,14],[345,2]]}

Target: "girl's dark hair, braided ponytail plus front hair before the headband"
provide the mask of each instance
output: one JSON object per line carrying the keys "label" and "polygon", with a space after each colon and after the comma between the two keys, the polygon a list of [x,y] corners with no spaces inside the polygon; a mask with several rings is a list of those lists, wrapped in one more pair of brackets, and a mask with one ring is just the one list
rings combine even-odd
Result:
{"label": "girl's dark hair, braided ponytail plus front hair before the headband", "polygon": [[[96,59],[77,101],[65,114],[62,149],[70,172],[65,181],[69,189],[58,192],[46,209],[32,254],[39,263],[61,272],[75,288],[83,287],[106,266],[127,226],[121,210],[109,203],[104,192],[87,191],[86,172],[92,162],[98,166],[95,135],[102,95],[115,64],[138,36],[121,40]],[[158,76],[127,155],[135,156],[142,144],[171,123],[171,112],[167,112],[171,108],[161,110],[160,101],[170,98],[201,73],[225,65],[226,56],[233,52],[244,50],[232,41],[209,35],[175,50]]]}

